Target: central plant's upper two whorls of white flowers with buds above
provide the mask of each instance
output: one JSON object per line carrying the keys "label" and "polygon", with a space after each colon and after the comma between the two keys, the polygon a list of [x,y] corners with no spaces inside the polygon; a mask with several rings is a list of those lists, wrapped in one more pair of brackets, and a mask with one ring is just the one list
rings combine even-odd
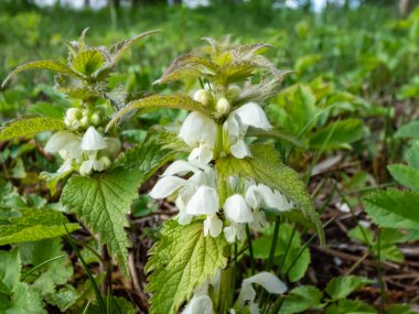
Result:
{"label": "central plant's upper two whorls of white flowers with buds above", "polygon": [[[195,99],[203,101],[203,105],[210,101],[208,97],[212,96],[205,89],[195,93]],[[228,101],[225,98],[221,99],[224,99],[222,102]],[[217,101],[217,108],[224,106],[223,104],[218,106],[221,99]],[[245,142],[249,127],[265,130],[271,128],[262,108],[255,102],[245,104],[226,117],[221,129],[223,153],[230,153],[237,159],[251,156]],[[293,204],[279,191],[239,177],[229,178],[227,183],[229,196],[224,204],[221,204],[217,173],[211,165],[214,150],[219,145],[217,132],[219,126],[213,119],[197,111],[191,112],[179,132],[179,137],[192,150],[189,161],[173,162],[150,195],[153,198],[175,195],[181,225],[190,224],[194,217],[202,217],[205,236],[210,234],[212,237],[218,237],[224,231],[228,242],[235,242],[236,239],[241,241],[246,238],[246,225],[253,230],[259,230],[267,225],[261,208],[282,212],[290,210]]]}

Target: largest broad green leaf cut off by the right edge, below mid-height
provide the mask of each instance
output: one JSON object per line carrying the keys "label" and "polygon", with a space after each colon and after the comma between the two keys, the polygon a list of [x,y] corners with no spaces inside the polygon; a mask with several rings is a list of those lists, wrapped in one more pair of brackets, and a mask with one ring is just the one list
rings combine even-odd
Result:
{"label": "largest broad green leaf cut off by the right edge, below mid-height", "polygon": [[387,228],[419,229],[419,194],[389,188],[364,199],[374,224]]}

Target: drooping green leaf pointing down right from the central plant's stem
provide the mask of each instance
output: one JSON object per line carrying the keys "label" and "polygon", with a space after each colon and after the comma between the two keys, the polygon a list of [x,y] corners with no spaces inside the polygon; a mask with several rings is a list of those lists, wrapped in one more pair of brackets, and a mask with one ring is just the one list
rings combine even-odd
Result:
{"label": "drooping green leaf pointing down right from the central plant's stem", "polygon": [[253,158],[236,159],[229,155],[218,159],[216,169],[219,182],[227,182],[229,176],[237,175],[279,190],[304,213],[311,227],[319,234],[320,241],[324,242],[322,224],[299,174],[286,166],[270,145],[254,145],[251,153]]}

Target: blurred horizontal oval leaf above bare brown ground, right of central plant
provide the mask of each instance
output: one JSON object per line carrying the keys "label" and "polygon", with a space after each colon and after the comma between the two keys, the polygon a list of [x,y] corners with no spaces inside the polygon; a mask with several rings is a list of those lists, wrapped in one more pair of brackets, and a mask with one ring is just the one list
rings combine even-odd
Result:
{"label": "blurred horizontal oval leaf above bare brown ground, right of central plant", "polygon": [[314,132],[310,139],[312,149],[325,150],[340,149],[355,142],[363,137],[363,121],[359,119],[346,119],[330,123]]}

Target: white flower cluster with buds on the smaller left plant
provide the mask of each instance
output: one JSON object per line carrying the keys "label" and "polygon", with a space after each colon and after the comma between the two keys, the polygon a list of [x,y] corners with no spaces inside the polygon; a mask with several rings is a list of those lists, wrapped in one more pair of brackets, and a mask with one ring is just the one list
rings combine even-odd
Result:
{"label": "white flower cluster with buds on the smaller left plant", "polygon": [[[68,117],[75,115],[76,108],[71,108],[66,112],[66,123]],[[96,119],[96,118],[95,118]],[[73,124],[75,127],[75,124]],[[78,128],[78,127],[77,127]],[[93,126],[83,136],[76,131],[58,131],[46,142],[45,151],[58,153],[64,160],[57,173],[78,171],[82,175],[89,175],[94,171],[104,171],[111,164],[110,156],[120,150],[120,141],[116,138],[105,138]]]}

